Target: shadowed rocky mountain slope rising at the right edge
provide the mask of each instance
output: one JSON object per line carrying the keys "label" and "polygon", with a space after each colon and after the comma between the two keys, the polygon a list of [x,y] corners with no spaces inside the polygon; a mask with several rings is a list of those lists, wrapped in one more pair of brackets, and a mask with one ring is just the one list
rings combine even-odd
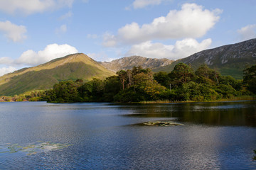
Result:
{"label": "shadowed rocky mountain slope rising at the right edge", "polygon": [[174,66],[180,62],[191,64],[193,69],[206,63],[208,67],[219,70],[224,76],[230,75],[235,79],[242,79],[242,70],[247,66],[256,64],[256,39],[203,50],[181,60],[176,60],[167,66],[153,69],[153,71],[171,72]]}

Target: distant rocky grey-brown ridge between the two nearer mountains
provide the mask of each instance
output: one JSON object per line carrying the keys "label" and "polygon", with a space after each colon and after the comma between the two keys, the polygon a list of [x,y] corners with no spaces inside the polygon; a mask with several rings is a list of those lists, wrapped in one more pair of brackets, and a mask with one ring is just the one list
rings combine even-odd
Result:
{"label": "distant rocky grey-brown ridge between the two nearer mountains", "polygon": [[123,57],[117,60],[112,60],[112,62],[99,62],[107,69],[117,72],[121,69],[127,70],[132,69],[132,67],[142,66],[143,68],[157,68],[163,67],[174,62],[168,59],[156,59],[156,58],[146,58],[140,56]]}

